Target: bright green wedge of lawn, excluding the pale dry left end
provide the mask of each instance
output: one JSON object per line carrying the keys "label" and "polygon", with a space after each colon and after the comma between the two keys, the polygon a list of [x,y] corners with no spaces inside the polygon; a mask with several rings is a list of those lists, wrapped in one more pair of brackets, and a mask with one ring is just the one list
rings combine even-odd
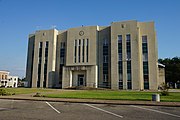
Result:
{"label": "bright green wedge of lawn, excluding the pale dry left end", "polygon": [[[141,100],[151,101],[152,94],[158,92],[146,91],[110,91],[110,90],[77,90],[46,94],[50,98],[81,98],[101,100]],[[160,94],[160,93],[159,93]],[[180,93],[170,93],[169,96],[160,96],[164,102],[180,102]]]}

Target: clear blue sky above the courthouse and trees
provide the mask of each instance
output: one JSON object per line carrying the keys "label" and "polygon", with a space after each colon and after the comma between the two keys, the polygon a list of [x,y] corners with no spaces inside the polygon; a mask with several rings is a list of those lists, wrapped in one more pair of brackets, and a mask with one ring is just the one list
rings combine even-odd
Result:
{"label": "clear blue sky above the courthouse and trees", "polygon": [[28,35],[36,30],[154,21],[158,57],[180,57],[180,0],[0,0],[0,70],[25,76]]}

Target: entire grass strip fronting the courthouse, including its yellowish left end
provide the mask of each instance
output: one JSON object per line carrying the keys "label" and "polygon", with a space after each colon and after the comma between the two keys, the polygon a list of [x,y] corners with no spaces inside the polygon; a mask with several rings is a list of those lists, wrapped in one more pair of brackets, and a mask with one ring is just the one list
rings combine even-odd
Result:
{"label": "entire grass strip fronting the courthouse, including its yellowish left end", "polygon": [[[43,88],[2,88],[9,93],[35,94],[48,98],[78,98],[78,99],[101,99],[101,100],[134,100],[151,101],[152,94],[160,92],[149,91],[119,91],[119,90],[61,90]],[[170,92],[169,96],[160,96],[163,102],[180,102],[180,92]]]}

